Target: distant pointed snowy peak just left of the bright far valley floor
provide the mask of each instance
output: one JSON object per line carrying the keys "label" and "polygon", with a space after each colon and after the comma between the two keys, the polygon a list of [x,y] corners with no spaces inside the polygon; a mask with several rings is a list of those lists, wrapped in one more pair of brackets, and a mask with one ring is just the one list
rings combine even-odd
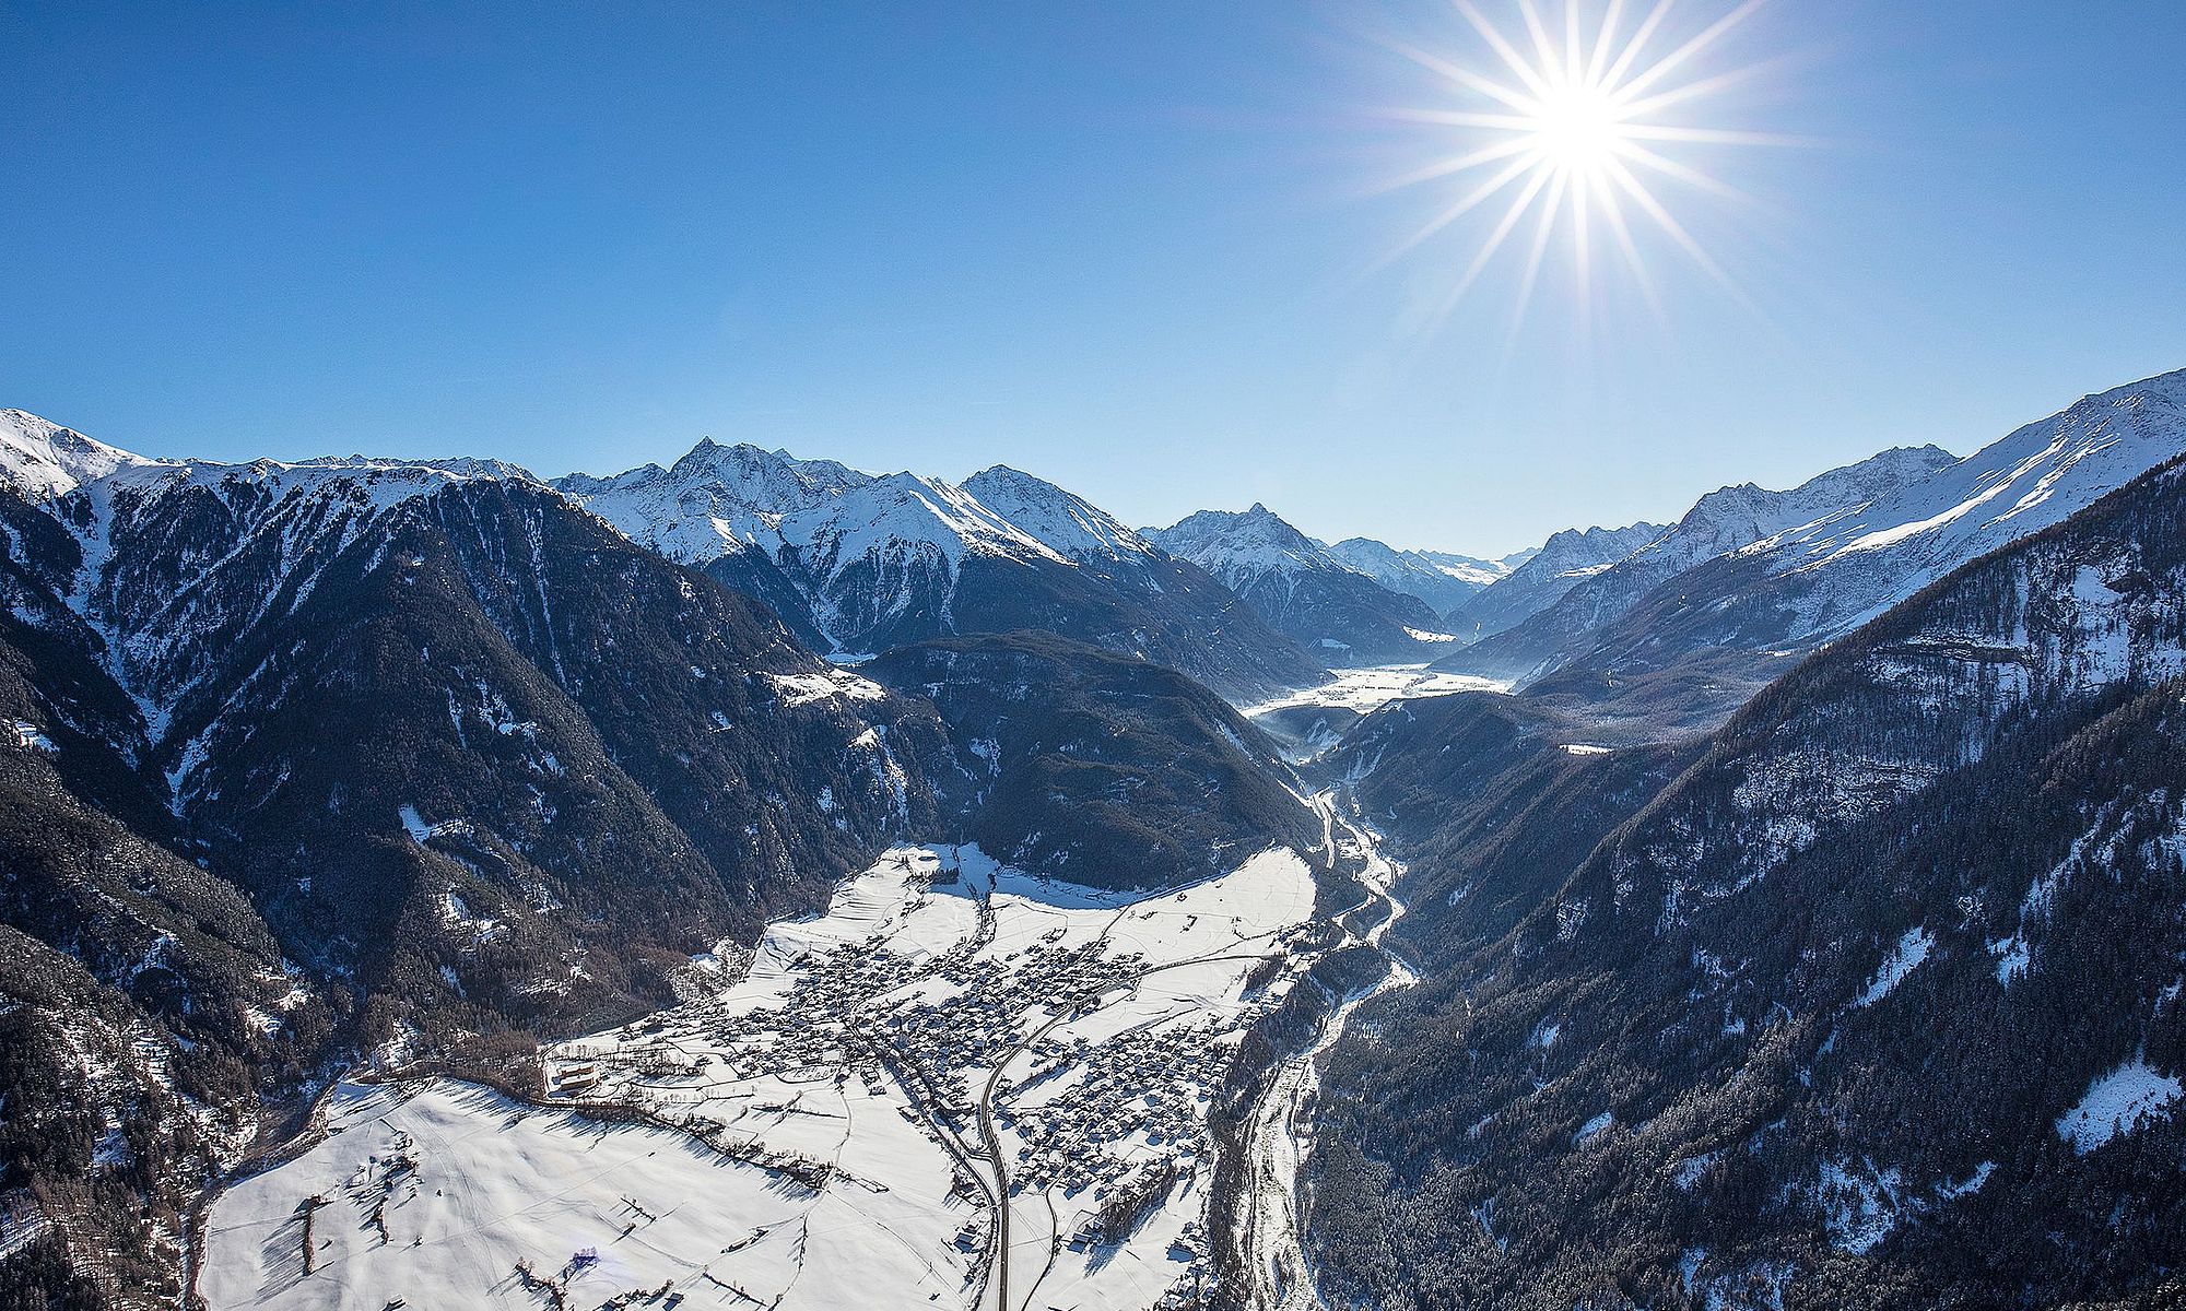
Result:
{"label": "distant pointed snowy peak just left of the bright far valley floor", "polygon": [[1145,535],[1229,583],[1279,631],[1331,664],[1427,660],[1434,610],[1340,564],[1266,505],[1202,509]]}

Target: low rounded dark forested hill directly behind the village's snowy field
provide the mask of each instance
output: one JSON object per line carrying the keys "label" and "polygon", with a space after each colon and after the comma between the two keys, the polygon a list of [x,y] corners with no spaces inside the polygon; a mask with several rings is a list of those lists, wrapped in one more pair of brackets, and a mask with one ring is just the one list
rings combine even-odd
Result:
{"label": "low rounded dark forested hill directly behind the village's snowy field", "polygon": [[1161,887],[1320,843],[1274,743],[1176,671],[1047,634],[903,647],[866,673],[964,749],[966,837],[1091,887]]}

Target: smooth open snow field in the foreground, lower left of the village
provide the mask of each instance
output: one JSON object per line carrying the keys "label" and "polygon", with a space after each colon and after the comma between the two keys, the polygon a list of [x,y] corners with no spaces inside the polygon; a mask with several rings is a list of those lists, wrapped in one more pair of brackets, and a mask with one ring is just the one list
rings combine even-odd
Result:
{"label": "smooth open snow field in the foreground, lower left of the village", "polygon": [[[581,1307],[667,1283],[693,1307],[850,1307],[853,1274],[905,1304],[953,1294],[964,1261],[947,1239],[966,1208],[949,1206],[947,1165],[903,1121],[866,1119],[837,1160],[874,1186],[813,1193],[680,1130],[455,1082],[343,1084],[324,1143],[219,1200],[199,1291],[212,1307],[546,1304],[525,1263]],[[599,1261],[577,1267],[579,1250]]]}

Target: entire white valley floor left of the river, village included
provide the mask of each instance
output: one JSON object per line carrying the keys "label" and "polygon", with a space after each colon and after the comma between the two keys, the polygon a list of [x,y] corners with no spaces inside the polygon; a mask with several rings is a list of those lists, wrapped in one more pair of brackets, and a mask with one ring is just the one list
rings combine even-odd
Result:
{"label": "entire white valley floor left of the river, village included", "polygon": [[[1283,940],[1312,905],[1288,850],[1128,898],[901,848],[824,916],[769,926],[748,968],[702,957],[697,1001],[546,1055],[553,1101],[645,1123],[455,1082],[341,1086],[324,1141],[214,1204],[199,1291],[992,1307],[1008,1280],[1012,1311],[1154,1307],[1204,1269],[1209,1086],[1290,985]],[[1128,1237],[1080,1239],[1135,1193],[1152,1200]]]}

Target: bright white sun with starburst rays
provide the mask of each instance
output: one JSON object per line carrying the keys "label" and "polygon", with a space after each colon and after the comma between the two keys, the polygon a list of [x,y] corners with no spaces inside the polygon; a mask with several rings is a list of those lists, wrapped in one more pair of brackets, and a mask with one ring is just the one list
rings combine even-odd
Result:
{"label": "bright white sun with starburst rays", "polygon": [[[1764,68],[1707,70],[1712,48],[1764,2],[1744,0],[1699,31],[1672,37],[1674,0],[1657,0],[1644,15],[1624,0],[1565,0],[1552,17],[1543,17],[1543,7],[1535,0],[1515,0],[1513,37],[1473,0],[1452,0],[1480,37],[1484,59],[1462,63],[1392,44],[1434,72],[1452,96],[1447,105],[1401,109],[1395,116],[1434,127],[1456,146],[1388,184],[1441,186],[1447,188],[1447,201],[1384,262],[1478,212],[1484,236],[1434,321],[1449,315],[1504,249],[1524,251],[1524,312],[1559,232],[1570,243],[1574,284],[1583,297],[1598,275],[1594,249],[1607,240],[1659,312],[1633,234],[1644,221],[1644,227],[1659,232],[1736,295],[1714,256],[1672,214],[1668,197],[1707,192],[1744,199],[1681,157],[1692,146],[1790,142],[1773,133],[1694,122],[1709,96]],[[1519,236],[1528,223],[1530,238]]]}

